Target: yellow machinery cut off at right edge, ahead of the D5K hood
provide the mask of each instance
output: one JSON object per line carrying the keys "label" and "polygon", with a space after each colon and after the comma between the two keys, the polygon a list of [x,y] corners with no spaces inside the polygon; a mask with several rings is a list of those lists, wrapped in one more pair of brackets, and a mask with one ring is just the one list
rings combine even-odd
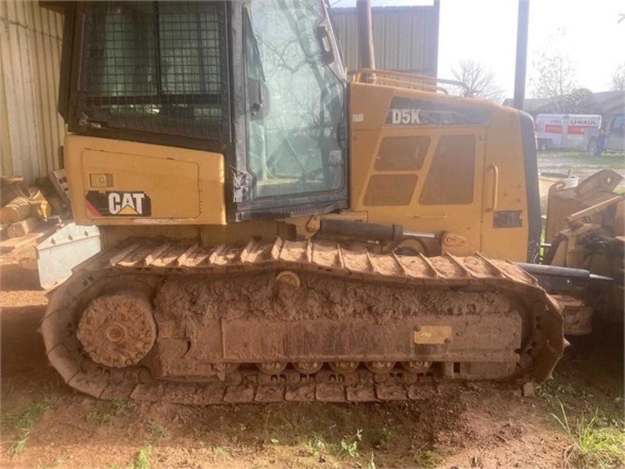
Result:
{"label": "yellow machinery cut off at right edge, ahead of the D5K hood", "polygon": [[564,306],[564,330],[569,335],[591,333],[593,316],[623,322],[625,194],[615,190],[622,179],[606,168],[578,186],[567,188],[558,181],[549,188],[543,263],[588,272],[597,280],[576,285],[570,278],[551,278],[543,285]]}

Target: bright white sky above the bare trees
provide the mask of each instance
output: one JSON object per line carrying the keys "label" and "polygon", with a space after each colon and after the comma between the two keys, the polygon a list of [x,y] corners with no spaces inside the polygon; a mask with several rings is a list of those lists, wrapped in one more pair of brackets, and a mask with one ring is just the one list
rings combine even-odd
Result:
{"label": "bright white sky above the bare trees", "polygon": [[[356,0],[331,0],[354,6]],[[372,6],[432,4],[431,0],[371,0]],[[506,96],[514,91],[517,0],[441,0],[438,75],[451,78],[460,60],[485,64]],[[578,86],[609,90],[612,74],[625,61],[625,0],[530,0],[526,96],[531,98],[533,63],[561,44],[576,68]]]}

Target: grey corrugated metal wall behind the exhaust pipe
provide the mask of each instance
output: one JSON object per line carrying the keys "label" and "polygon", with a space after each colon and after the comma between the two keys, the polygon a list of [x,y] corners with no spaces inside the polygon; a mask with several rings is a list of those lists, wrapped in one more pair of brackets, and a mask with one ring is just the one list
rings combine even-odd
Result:
{"label": "grey corrugated metal wall behind the exhaust pipe", "polygon": [[[347,71],[359,68],[355,8],[333,8]],[[372,8],[376,68],[436,76],[438,3],[433,6]]]}

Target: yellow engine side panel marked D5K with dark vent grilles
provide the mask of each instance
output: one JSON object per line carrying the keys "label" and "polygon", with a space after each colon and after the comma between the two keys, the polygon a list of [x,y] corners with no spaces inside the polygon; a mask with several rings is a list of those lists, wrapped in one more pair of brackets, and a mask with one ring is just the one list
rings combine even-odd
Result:
{"label": "yellow engine side panel marked D5K with dark vent grilles", "polygon": [[431,91],[350,84],[350,203],[371,223],[451,231],[494,258],[527,261],[519,111]]}

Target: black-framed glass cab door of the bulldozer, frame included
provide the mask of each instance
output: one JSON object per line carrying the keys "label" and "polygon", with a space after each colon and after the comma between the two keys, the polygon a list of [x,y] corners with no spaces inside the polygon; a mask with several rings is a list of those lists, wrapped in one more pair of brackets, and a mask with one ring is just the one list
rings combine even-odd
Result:
{"label": "black-framed glass cab door of the bulldozer, frame included", "polygon": [[346,208],[346,76],[324,3],[232,8],[244,64],[229,221]]}

